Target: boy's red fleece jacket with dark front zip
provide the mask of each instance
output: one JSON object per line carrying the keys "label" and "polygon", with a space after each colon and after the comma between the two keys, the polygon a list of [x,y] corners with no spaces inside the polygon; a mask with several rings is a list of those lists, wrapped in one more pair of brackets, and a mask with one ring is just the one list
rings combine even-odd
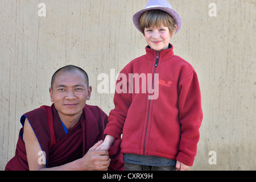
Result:
{"label": "boy's red fleece jacket with dark front zip", "polygon": [[[160,156],[192,166],[203,119],[199,81],[192,65],[175,56],[170,46],[160,53],[147,46],[146,55],[122,69],[115,89],[115,108],[110,111],[104,134],[115,138],[123,134],[123,154]],[[141,76],[139,92],[134,89],[138,80],[129,82],[131,73]],[[145,75],[154,93],[143,91]],[[158,97],[150,100],[148,96],[154,94]]]}

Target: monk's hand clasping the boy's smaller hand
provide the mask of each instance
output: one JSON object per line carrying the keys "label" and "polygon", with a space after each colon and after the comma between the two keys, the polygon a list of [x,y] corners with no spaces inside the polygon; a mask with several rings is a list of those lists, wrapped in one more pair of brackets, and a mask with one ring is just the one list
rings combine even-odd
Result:
{"label": "monk's hand clasping the boy's smaller hand", "polygon": [[110,158],[108,150],[96,150],[102,140],[94,144],[80,159],[80,168],[84,171],[107,171]]}

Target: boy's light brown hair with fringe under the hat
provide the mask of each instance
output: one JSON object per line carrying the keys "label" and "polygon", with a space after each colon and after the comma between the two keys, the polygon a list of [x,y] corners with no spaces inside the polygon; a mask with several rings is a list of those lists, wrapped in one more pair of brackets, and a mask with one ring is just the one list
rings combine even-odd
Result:
{"label": "boy's light brown hair with fringe under the hat", "polygon": [[139,28],[143,35],[145,35],[145,28],[155,28],[160,26],[168,27],[170,34],[174,34],[175,20],[172,16],[162,10],[148,10],[145,11],[139,18]]}

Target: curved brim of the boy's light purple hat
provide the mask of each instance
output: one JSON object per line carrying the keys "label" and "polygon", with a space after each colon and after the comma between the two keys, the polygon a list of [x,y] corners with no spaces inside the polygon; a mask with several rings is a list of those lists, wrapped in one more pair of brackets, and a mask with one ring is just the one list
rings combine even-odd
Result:
{"label": "curved brim of the boy's light purple hat", "polygon": [[[172,18],[174,18],[174,21],[175,21],[175,24],[177,26],[177,30],[175,32],[175,34],[180,30],[180,27],[181,27],[181,18],[180,18],[180,15],[176,13],[176,11],[174,11],[173,9],[171,8],[168,8],[168,7],[162,7],[162,6],[155,6],[155,7],[149,7],[149,8],[145,8],[141,11],[138,11],[137,13],[135,13],[133,15],[133,23],[135,25],[135,27],[140,31],[140,28],[139,28],[139,18],[141,17],[141,15],[145,12],[145,11],[148,11],[148,10],[162,10],[162,11],[166,11],[166,13],[170,14],[172,16]],[[143,32],[142,32],[143,34]]]}

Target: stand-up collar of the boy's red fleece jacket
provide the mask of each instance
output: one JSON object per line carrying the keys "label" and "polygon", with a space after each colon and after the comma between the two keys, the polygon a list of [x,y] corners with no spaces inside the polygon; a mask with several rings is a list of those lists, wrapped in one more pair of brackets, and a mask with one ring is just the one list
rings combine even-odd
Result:
{"label": "stand-up collar of the boy's red fleece jacket", "polygon": [[[156,51],[154,49],[151,49],[150,46],[147,46],[146,48],[146,57],[149,60],[155,61],[156,59]],[[167,60],[170,59],[170,57],[174,56],[174,46],[169,43],[169,48],[164,49],[160,51],[159,53],[159,61],[160,60]]]}

